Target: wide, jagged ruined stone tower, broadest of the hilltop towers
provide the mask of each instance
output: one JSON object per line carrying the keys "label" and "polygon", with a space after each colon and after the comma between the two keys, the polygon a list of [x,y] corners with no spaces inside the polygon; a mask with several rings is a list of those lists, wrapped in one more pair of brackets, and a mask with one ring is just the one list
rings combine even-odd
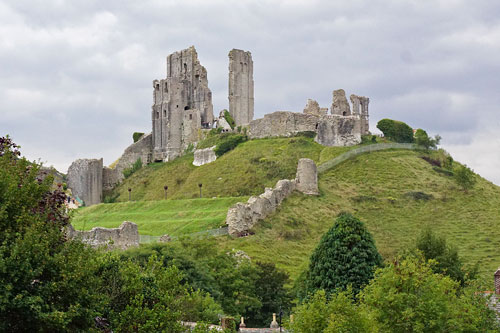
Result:
{"label": "wide, jagged ruined stone tower, broadest of the hilltop towers", "polygon": [[207,70],[194,46],[167,57],[167,78],[153,81],[153,159],[172,160],[214,120]]}

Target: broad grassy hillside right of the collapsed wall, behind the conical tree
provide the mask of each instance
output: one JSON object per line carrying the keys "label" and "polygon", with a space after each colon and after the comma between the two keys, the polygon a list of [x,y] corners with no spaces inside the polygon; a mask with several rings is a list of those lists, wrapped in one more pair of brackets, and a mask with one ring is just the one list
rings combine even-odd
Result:
{"label": "broad grassy hillside right of the collapsed wall, behind the conical tree", "polygon": [[[477,177],[475,188],[464,193],[421,155],[391,150],[343,162],[320,175],[319,197],[292,195],[255,228],[255,235],[221,239],[222,246],[272,260],[296,277],[335,216],[349,211],[366,223],[384,258],[413,244],[422,228],[430,226],[459,248],[467,264],[480,263],[487,285],[500,265],[500,187]],[[433,199],[405,196],[410,191]]]}

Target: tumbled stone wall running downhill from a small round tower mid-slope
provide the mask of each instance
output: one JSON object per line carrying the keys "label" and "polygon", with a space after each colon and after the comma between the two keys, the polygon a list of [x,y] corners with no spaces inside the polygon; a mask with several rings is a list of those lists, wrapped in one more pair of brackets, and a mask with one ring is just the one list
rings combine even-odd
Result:
{"label": "tumbled stone wall running downhill from a small round tower mid-slope", "polygon": [[278,180],[274,188],[266,188],[261,195],[252,196],[246,203],[238,202],[229,208],[226,216],[229,234],[239,236],[250,230],[258,221],[273,213],[294,190],[308,195],[319,193],[317,168],[313,160],[299,160],[294,180]]}

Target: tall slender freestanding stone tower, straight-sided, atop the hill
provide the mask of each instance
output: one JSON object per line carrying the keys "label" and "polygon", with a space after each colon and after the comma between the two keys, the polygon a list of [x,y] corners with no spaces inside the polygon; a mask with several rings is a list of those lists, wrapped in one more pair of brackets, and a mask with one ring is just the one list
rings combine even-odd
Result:
{"label": "tall slender freestanding stone tower, straight-sided, atop the hill", "polygon": [[229,113],[237,126],[253,120],[252,54],[232,49],[229,52]]}

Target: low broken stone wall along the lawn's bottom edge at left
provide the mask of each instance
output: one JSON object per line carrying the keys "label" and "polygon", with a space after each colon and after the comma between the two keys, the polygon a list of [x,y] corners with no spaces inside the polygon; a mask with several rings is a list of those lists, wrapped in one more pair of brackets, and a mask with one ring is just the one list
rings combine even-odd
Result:
{"label": "low broken stone wall along the lawn's bottom edge at left", "polygon": [[92,228],[90,231],[78,231],[69,225],[66,237],[80,239],[92,247],[108,246],[109,249],[127,249],[139,246],[139,229],[137,224],[125,221],[118,228]]}

